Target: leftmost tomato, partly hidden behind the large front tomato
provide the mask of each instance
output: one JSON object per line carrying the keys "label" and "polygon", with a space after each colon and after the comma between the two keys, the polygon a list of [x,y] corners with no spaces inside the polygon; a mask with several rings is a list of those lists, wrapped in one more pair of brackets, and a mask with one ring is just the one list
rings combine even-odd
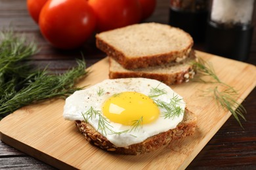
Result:
{"label": "leftmost tomato, partly hidden behind the large front tomato", "polygon": [[27,0],[27,8],[28,12],[30,13],[30,16],[33,18],[33,20],[38,24],[39,20],[39,14],[41,12],[41,9],[43,8],[43,5],[48,0]]}

